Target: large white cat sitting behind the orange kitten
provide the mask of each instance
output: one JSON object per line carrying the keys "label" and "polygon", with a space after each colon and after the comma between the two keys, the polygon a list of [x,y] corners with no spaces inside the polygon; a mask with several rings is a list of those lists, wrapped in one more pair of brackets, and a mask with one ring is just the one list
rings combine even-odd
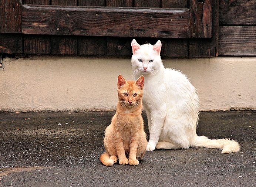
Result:
{"label": "large white cat sitting behind the orange kitten", "polygon": [[222,149],[222,153],[238,152],[235,140],[210,140],[196,134],[199,99],[186,75],[164,68],[160,51],[155,45],[139,45],[132,40],[132,69],[138,78],[144,75],[143,105],[149,128],[147,151],[156,149],[187,149],[206,147]]}

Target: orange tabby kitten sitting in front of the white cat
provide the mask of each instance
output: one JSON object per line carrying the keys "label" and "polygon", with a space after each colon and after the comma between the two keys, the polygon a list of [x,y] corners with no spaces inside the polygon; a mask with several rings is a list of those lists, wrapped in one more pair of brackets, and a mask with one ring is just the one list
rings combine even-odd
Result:
{"label": "orange tabby kitten sitting in front of the white cat", "polygon": [[125,81],[119,75],[117,86],[117,112],[105,129],[106,152],[101,154],[100,161],[105,166],[112,166],[117,163],[117,159],[122,165],[138,165],[147,145],[141,116],[144,76],[140,76],[137,81]]}

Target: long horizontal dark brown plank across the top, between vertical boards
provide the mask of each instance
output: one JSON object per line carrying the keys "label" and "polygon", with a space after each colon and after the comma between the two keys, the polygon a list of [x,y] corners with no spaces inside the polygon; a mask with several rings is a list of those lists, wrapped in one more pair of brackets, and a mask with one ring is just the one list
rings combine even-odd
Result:
{"label": "long horizontal dark brown plank across the top, between vertical boards", "polygon": [[23,5],[25,34],[189,37],[189,10]]}

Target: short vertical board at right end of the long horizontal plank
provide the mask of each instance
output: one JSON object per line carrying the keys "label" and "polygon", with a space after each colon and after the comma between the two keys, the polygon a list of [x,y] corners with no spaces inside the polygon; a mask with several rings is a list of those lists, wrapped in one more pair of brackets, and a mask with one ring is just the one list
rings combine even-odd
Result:
{"label": "short vertical board at right end of the long horizontal plank", "polygon": [[212,0],[190,0],[189,35],[191,38],[212,37]]}

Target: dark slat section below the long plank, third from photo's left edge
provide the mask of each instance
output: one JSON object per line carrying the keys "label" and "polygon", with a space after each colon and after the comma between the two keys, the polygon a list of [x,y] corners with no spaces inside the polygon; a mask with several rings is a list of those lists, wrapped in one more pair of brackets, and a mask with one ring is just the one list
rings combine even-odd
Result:
{"label": "dark slat section below the long plank, third from photo's left edge", "polygon": [[77,39],[74,36],[52,36],[51,54],[76,55]]}

